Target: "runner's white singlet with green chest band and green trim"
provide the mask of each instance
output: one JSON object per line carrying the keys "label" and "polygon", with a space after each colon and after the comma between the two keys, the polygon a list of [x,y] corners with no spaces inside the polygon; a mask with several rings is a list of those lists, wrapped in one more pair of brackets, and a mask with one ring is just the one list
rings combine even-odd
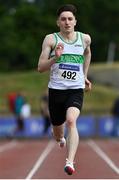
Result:
{"label": "runner's white singlet with green chest band and green trim", "polygon": [[[76,35],[77,38],[73,43],[67,43],[58,33],[54,33],[55,47],[58,43],[62,43],[64,50],[61,57],[51,66],[49,88],[62,90],[85,88],[82,33],[76,32]],[[55,56],[55,47],[50,57]]]}

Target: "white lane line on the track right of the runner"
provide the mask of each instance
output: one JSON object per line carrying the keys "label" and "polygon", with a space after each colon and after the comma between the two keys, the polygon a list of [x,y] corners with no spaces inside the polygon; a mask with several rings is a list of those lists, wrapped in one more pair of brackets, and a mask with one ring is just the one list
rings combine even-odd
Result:
{"label": "white lane line on the track right of the runner", "polygon": [[119,168],[114,164],[114,162],[105,154],[105,152],[93,141],[89,140],[88,145],[108,164],[108,166],[119,174]]}

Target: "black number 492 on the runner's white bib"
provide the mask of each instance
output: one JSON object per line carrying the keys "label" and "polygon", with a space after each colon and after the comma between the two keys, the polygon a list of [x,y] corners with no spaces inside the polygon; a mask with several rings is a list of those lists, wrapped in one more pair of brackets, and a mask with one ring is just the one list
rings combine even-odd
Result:
{"label": "black number 492 on the runner's white bib", "polygon": [[74,72],[74,71],[63,71],[61,76],[64,79],[76,81],[76,72]]}

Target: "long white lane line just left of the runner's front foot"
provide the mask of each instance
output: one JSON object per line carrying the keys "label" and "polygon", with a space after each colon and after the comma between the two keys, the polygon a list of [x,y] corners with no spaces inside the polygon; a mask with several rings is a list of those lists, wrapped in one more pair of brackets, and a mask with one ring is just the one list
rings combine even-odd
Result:
{"label": "long white lane line just left of the runner's front foot", "polygon": [[52,151],[54,146],[55,146],[54,141],[50,141],[48,143],[48,145],[46,146],[46,148],[44,149],[44,151],[42,152],[42,154],[40,155],[40,157],[38,158],[35,165],[33,166],[33,168],[31,169],[31,171],[29,172],[29,174],[27,175],[27,177],[25,179],[30,180],[33,177],[33,175],[36,173],[36,171],[42,165],[43,161],[47,158],[48,154]]}

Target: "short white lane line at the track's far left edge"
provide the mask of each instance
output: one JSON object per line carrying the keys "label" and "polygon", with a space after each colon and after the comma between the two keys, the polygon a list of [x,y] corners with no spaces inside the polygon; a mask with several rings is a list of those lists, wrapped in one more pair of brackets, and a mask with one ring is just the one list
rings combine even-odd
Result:
{"label": "short white lane line at the track's far left edge", "polygon": [[9,149],[12,149],[14,146],[16,146],[17,142],[15,140],[9,142],[9,143],[6,143],[2,146],[0,146],[0,153],[6,151],[6,150],[9,150]]}

